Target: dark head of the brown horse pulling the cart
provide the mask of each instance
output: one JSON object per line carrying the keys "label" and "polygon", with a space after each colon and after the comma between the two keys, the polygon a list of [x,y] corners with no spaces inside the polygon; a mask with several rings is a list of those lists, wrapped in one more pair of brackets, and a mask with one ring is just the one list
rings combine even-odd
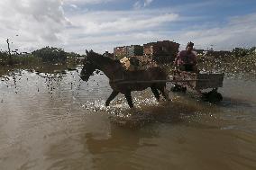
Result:
{"label": "dark head of the brown horse pulling the cart", "polygon": [[81,70],[80,77],[83,81],[88,81],[89,77],[96,71],[96,64],[92,59],[92,55],[96,54],[92,50],[87,51],[87,57],[84,60],[84,67]]}

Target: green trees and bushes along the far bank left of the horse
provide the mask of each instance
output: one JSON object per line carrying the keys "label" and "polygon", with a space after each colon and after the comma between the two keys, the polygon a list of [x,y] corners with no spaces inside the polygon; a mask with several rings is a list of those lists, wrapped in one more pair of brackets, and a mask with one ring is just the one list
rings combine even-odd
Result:
{"label": "green trees and bushes along the far bank left of the horse", "polygon": [[32,53],[10,53],[0,51],[0,76],[9,71],[26,69],[37,72],[62,72],[66,69],[75,70],[83,63],[84,56],[64,49],[45,47]]}

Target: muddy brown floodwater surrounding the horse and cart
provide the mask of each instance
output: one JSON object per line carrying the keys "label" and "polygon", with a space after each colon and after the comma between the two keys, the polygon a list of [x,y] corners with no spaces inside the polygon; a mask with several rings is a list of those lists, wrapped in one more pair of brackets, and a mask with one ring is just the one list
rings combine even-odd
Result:
{"label": "muddy brown floodwater surrounding the horse and cart", "polygon": [[256,169],[256,78],[225,78],[222,103],[150,91],[105,108],[102,74],[20,70],[0,81],[0,169]]}

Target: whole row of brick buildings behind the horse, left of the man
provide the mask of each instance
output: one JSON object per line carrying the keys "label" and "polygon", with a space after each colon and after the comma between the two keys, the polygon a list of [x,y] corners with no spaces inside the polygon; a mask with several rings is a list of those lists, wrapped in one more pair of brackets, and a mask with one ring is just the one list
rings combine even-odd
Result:
{"label": "whole row of brick buildings behind the horse, left of the man", "polygon": [[131,45],[114,48],[114,58],[140,58],[142,60],[154,60],[160,63],[168,63],[174,60],[178,54],[179,44],[169,40],[150,42],[141,45]]}

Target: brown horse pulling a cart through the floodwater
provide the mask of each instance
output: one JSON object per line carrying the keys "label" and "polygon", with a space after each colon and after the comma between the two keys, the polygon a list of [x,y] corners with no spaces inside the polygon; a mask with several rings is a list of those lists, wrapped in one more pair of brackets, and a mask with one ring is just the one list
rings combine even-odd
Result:
{"label": "brown horse pulling a cart through the floodwater", "polygon": [[[165,99],[168,99],[168,94],[165,90],[166,83],[151,82],[152,80],[167,79],[166,73],[160,67],[151,67],[146,70],[128,71],[123,68],[119,60],[103,57],[92,50],[89,52],[87,51],[84,67],[80,73],[82,80],[87,81],[89,76],[91,76],[96,69],[105,73],[105,76],[109,78],[109,85],[113,89],[112,94],[110,94],[105,102],[105,106],[108,106],[114,97],[121,93],[124,94],[129,106],[132,108],[133,100],[131,92],[142,91],[148,87],[151,87],[151,91],[158,101],[160,100],[160,93]],[[145,81],[145,83],[133,83],[133,81]],[[160,93],[158,90],[160,90]]]}

